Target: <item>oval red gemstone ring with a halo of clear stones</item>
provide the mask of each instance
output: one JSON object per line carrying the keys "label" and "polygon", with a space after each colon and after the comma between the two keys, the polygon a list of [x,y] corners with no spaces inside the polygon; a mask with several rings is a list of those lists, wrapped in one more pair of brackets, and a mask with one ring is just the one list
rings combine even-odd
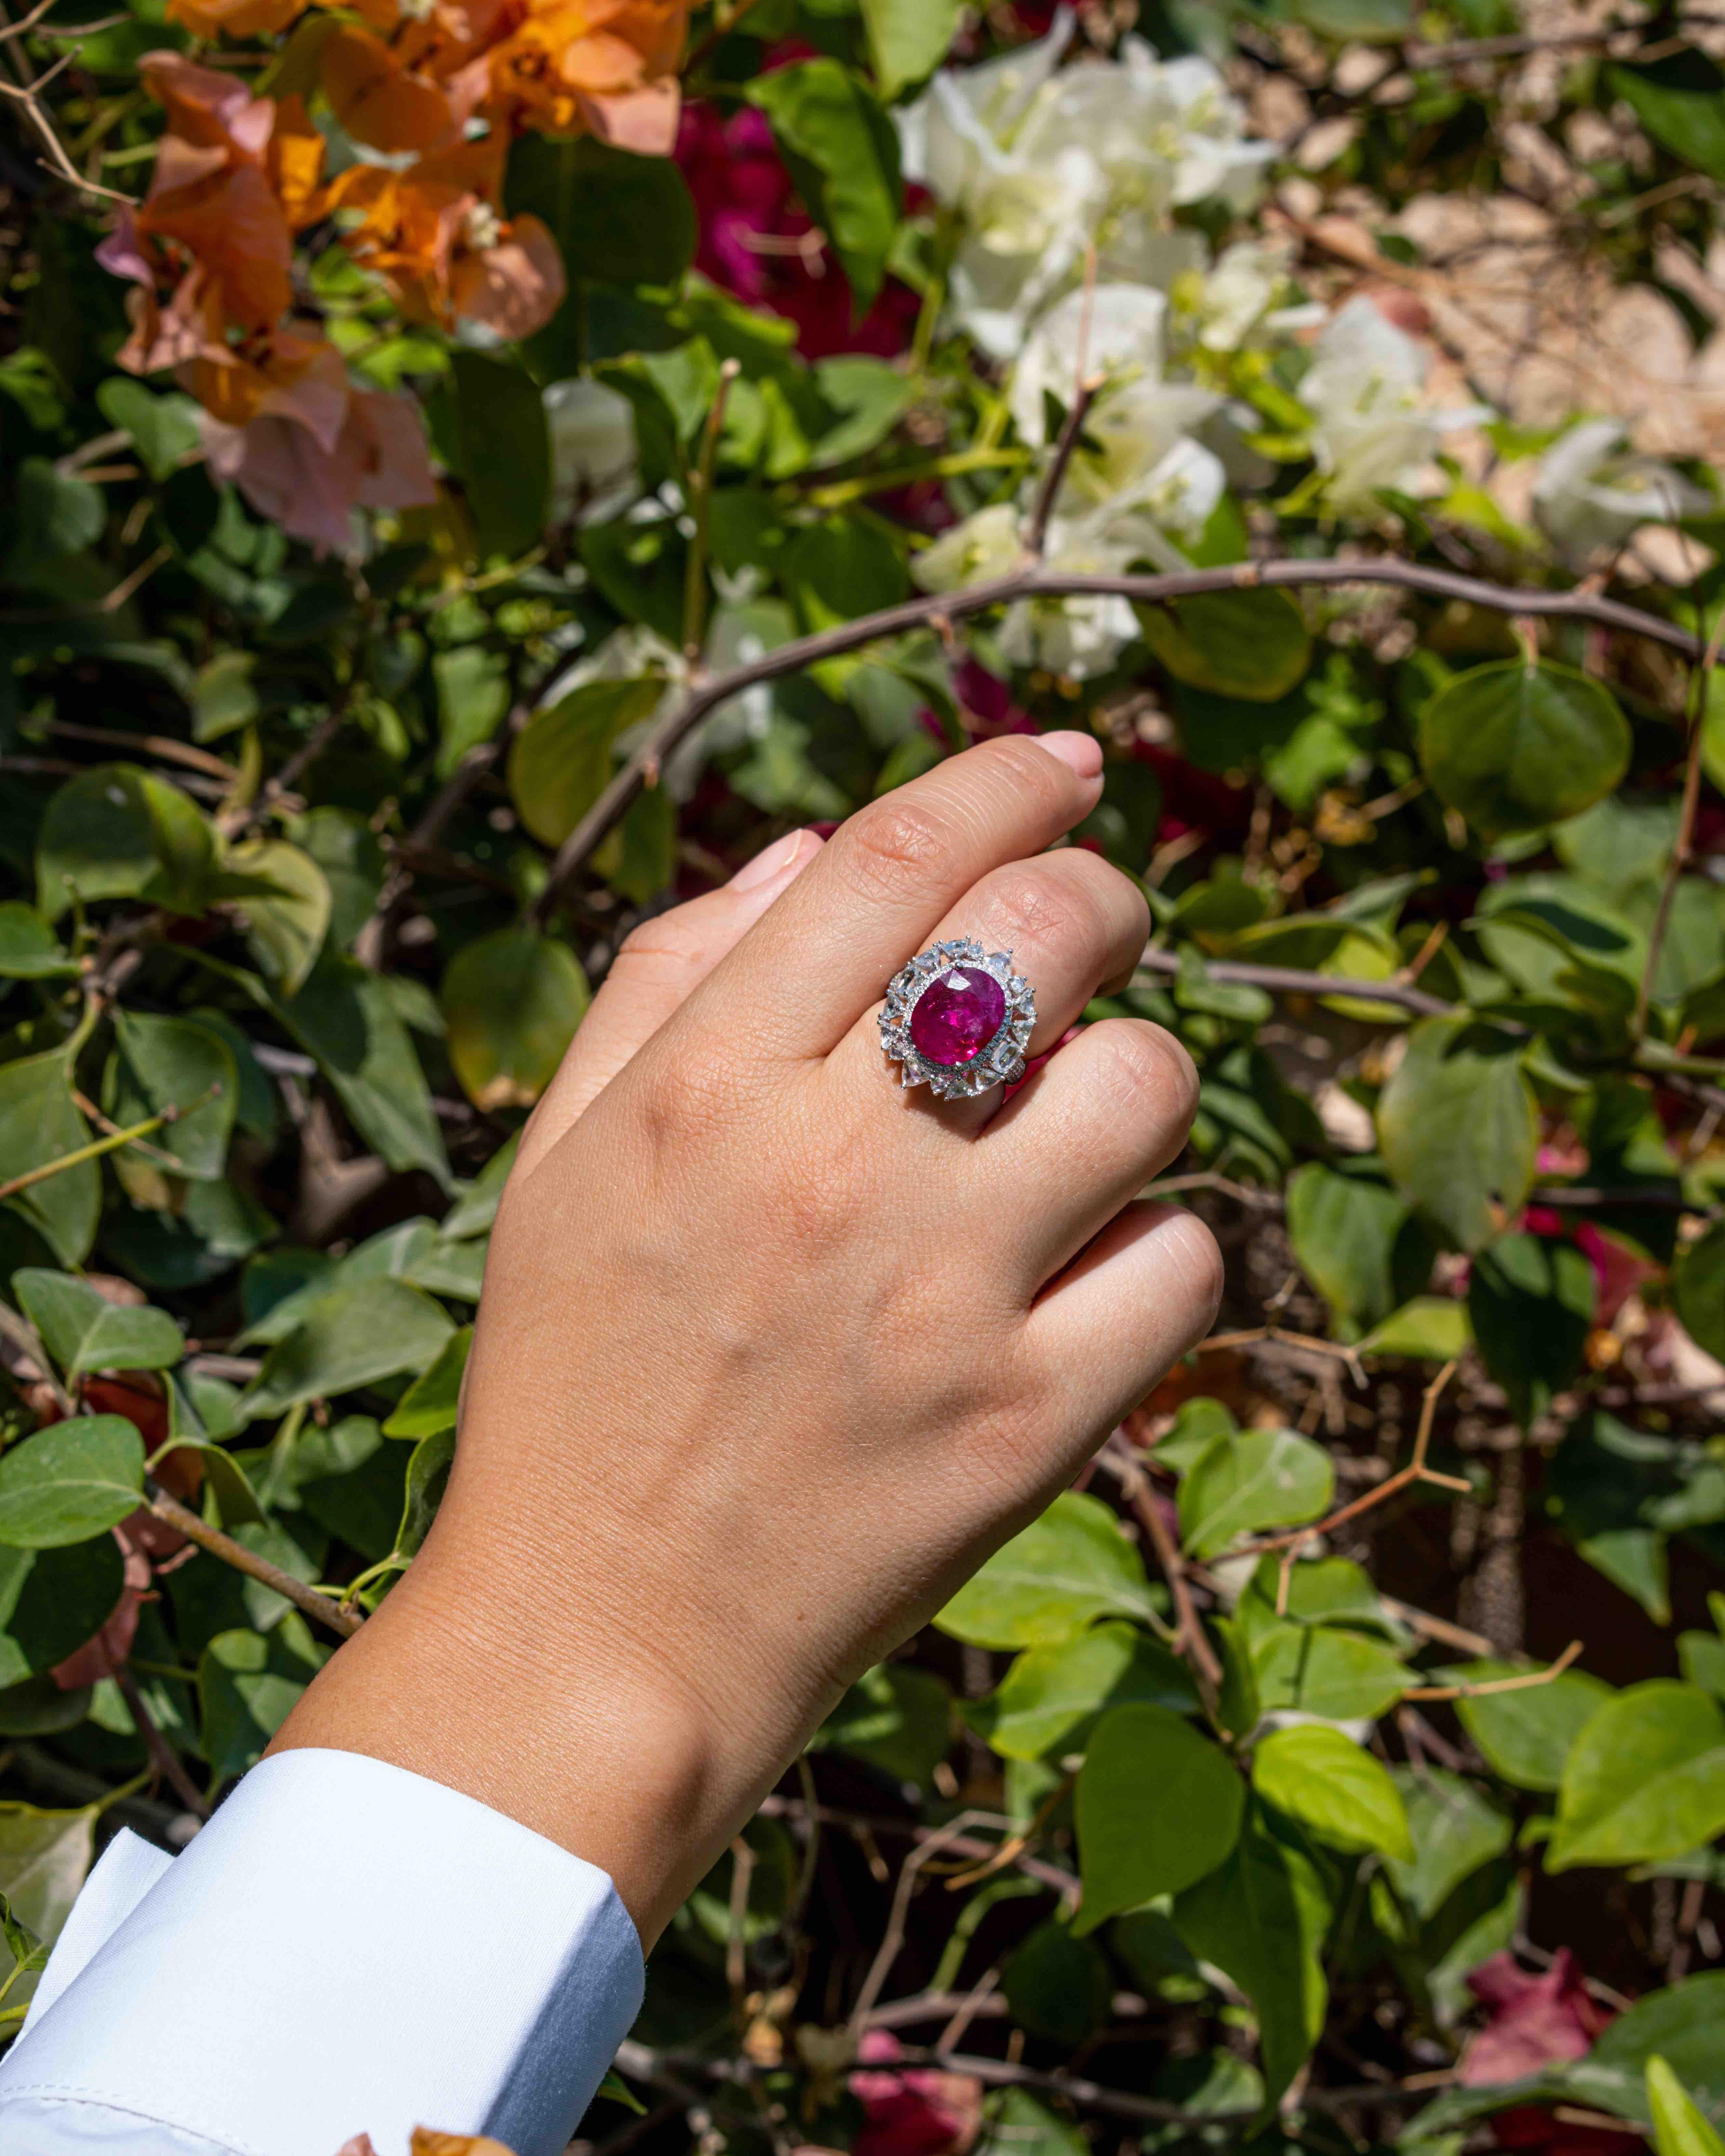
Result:
{"label": "oval red gemstone ring with a halo of clear stones", "polygon": [[1011,951],[983,951],[960,936],[893,977],[880,1046],[899,1065],[899,1084],[972,1100],[992,1084],[1018,1084],[1035,1022],[1035,990],[1013,972]]}

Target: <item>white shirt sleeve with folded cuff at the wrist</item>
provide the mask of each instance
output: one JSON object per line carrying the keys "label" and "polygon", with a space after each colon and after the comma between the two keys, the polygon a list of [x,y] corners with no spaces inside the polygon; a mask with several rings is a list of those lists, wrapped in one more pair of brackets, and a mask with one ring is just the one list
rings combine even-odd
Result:
{"label": "white shirt sleeve with folded cuff at the wrist", "polygon": [[604,1871],[380,1759],[278,1753],[181,1856],[108,1848],[0,2061],[0,2147],[561,2156],[640,1992]]}

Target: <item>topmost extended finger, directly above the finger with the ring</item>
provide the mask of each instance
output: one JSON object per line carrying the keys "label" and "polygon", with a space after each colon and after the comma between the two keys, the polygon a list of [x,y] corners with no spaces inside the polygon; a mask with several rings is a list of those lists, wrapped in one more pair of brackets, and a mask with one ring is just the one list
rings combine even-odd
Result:
{"label": "topmost extended finger, directly above the finger with the ring", "polygon": [[701,998],[774,1054],[828,1054],[990,869],[1024,860],[1095,808],[1102,744],[1013,733],[966,748],[860,808]]}

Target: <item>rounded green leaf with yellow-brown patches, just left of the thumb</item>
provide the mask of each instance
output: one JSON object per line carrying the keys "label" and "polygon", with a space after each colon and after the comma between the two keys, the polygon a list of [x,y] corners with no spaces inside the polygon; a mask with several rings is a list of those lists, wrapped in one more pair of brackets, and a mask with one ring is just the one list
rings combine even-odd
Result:
{"label": "rounded green leaf with yellow-brown patches, just left of the thumb", "polygon": [[448,964],[448,1061],[474,1108],[530,1108],[591,1003],[576,953],[535,929],[498,929]]}

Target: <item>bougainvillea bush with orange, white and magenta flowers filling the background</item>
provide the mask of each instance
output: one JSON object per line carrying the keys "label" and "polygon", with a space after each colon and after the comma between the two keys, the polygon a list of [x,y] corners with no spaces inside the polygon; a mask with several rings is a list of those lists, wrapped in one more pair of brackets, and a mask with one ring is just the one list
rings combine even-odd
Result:
{"label": "bougainvillea bush with orange, white and magenta flowers filling the background", "polygon": [[1719,2156],[1716,19],[6,6],[0,2027],[412,1563],[623,936],[1082,724],[1218,1330],[584,2132]]}

